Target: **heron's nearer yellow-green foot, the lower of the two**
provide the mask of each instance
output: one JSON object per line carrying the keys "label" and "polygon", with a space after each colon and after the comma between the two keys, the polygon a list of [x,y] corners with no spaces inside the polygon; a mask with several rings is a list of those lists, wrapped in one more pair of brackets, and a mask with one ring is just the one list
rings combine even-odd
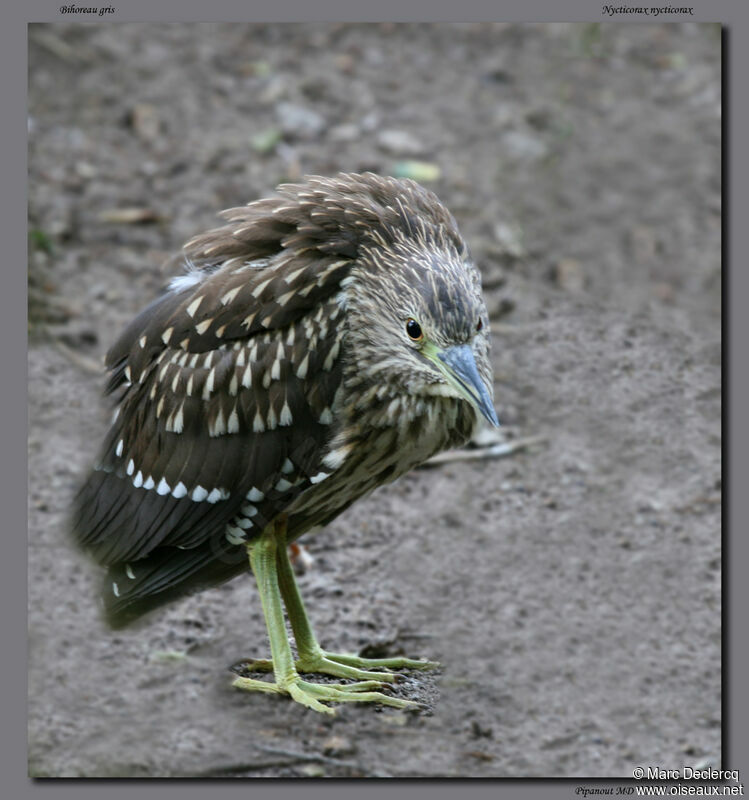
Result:
{"label": "heron's nearer yellow-green foot, the lower of the two", "polygon": [[411,700],[402,700],[399,697],[390,697],[382,692],[374,691],[382,687],[382,683],[379,681],[357,681],[349,684],[310,683],[303,681],[298,674],[294,673],[276,683],[252,678],[236,678],[232,685],[237,689],[250,692],[288,694],[297,703],[301,703],[313,711],[331,715],[335,714],[335,709],[326,706],[325,703],[381,703],[393,708],[422,707],[421,704]]}

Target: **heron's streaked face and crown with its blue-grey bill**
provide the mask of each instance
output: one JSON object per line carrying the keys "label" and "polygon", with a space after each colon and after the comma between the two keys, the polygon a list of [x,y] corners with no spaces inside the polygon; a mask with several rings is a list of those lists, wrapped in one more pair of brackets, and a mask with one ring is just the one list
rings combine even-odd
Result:
{"label": "heron's streaked face and crown with its blue-grey bill", "polygon": [[499,424],[480,274],[462,240],[403,235],[373,244],[350,287],[349,342],[367,365],[360,377],[411,396],[466,400]]}

